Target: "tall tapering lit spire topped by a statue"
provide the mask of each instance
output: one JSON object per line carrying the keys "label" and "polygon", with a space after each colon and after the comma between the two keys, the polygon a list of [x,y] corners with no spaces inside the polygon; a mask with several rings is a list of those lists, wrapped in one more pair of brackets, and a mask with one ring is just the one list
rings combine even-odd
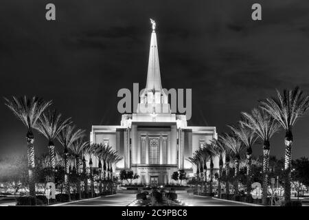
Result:
{"label": "tall tapering lit spire topped by a statue", "polygon": [[158,55],[158,45],[157,45],[157,35],[155,32],[156,23],[152,19],[150,19],[150,21],[152,23],[152,33],[151,33],[151,40],[150,40],[146,89],[162,89],[160,66],[159,66],[159,55]]}

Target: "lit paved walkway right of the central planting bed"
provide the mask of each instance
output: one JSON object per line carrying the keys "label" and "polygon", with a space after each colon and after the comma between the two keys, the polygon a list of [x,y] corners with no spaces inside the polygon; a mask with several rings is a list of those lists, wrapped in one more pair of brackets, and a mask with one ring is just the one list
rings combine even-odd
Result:
{"label": "lit paved walkway right of the central planting bed", "polygon": [[222,201],[221,199],[213,199],[211,197],[202,197],[193,195],[192,193],[178,194],[179,200],[188,206],[249,206],[242,203],[234,203],[231,201]]}

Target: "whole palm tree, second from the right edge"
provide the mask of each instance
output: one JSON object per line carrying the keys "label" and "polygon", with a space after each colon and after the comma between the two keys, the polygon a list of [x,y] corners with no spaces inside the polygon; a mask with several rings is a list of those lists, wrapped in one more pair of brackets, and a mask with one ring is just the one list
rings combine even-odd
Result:
{"label": "whole palm tree, second from the right edge", "polygon": [[258,108],[253,109],[250,113],[242,112],[246,121],[242,122],[249,127],[260,137],[263,141],[263,191],[262,203],[267,204],[267,188],[268,188],[268,164],[271,144],[269,140],[279,130],[279,124],[266,111]]}

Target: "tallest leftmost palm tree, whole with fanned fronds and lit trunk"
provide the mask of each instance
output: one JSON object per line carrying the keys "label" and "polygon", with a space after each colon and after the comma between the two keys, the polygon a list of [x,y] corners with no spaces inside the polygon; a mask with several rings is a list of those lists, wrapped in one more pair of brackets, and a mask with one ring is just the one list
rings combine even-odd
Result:
{"label": "tallest leftmost palm tree, whole with fanned fronds and lit trunk", "polygon": [[35,179],[34,179],[34,134],[33,129],[36,127],[38,118],[52,101],[45,102],[42,98],[27,98],[26,96],[16,98],[12,97],[12,100],[5,99],[5,105],[13,111],[14,115],[23,122],[27,127],[27,157],[28,157],[28,178],[29,178],[29,190],[30,195],[36,195]]}

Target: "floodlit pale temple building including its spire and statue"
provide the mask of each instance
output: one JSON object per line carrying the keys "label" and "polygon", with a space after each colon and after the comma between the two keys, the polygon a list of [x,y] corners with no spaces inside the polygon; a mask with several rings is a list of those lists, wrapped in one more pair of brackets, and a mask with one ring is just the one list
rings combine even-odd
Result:
{"label": "floodlit pale temple building including its spire and statue", "polygon": [[[188,176],[196,173],[196,167],[187,158],[216,135],[215,126],[187,126],[186,115],[172,113],[168,94],[161,85],[152,21],[146,87],[140,93],[136,111],[123,114],[120,125],[93,125],[91,143],[112,146],[123,158],[113,168],[116,175],[120,170],[130,169],[139,175],[136,183],[161,185],[172,182],[174,171],[183,169]],[[94,157],[93,166],[98,167]],[[218,158],[214,159],[214,168],[218,168]]]}

